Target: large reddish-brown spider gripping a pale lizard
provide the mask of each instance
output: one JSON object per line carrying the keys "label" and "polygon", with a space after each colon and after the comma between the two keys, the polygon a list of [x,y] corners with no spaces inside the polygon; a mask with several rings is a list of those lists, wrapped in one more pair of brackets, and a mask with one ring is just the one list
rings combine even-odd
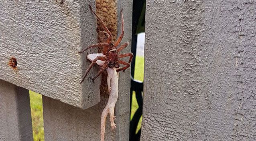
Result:
{"label": "large reddish-brown spider gripping a pale lizard", "polygon": [[[87,48],[84,48],[83,50],[81,50],[79,53],[84,52],[85,50],[89,49],[89,48],[94,48],[94,47],[103,47],[102,49],[102,56],[97,56],[96,58],[94,58],[90,64],[90,66],[87,68],[85,75],[83,76],[83,79],[81,80],[80,83],[83,82],[83,80],[85,79],[85,77],[87,76],[87,74],[89,73],[91,67],[96,63],[97,60],[102,60],[105,61],[105,63],[102,65],[100,71],[97,73],[97,75],[95,77],[93,77],[92,80],[96,79],[101,73],[102,71],[106,70],[108,67],[110,68],[117,68],[117,72],[118,71],[125,71],[127,68],[129,68],[130,66],[130,62],[132,61],[132,57],[133,54],[132,53],[125,53],[125,54],[119,54],[119,52],[124,49],[126,46],[128,46],[128,42],[122,44],[119,48],[116,48],[123,36],[124,36],[124,17],[123,17],[123,13],[121,10],[121,26],[122,26],[122,32],[119,36],[119,38],[116,40],[116,42],[113,41],[112,39],[112,34],[111,32],[108,30],[107,26],[104,24],[104,22],[102,21],[102,19],[91,9],[91,6],[89,5],[89,8],[91,10],[91,12],[93,12],[93,14],[97,17],[97,19],[100,21],[100,23],[102,24],[103,28],[104,28],[104,32],[106,32],[108,39],[106,40],[106,42],[103,43],[99,43],[99,44],[93,44]],[[119,58],[123,58],[123,57],[128,57],[130,56],[130,59],[128,62],[125,62],[123,60],[119,60]],[[119,68],[120,64],[124,64],[125,66]]]}

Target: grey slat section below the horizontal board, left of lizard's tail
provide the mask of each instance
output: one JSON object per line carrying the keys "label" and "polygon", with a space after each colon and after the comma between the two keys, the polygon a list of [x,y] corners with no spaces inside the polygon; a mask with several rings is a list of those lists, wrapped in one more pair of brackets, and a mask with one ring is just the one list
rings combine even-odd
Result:
{"label": "grey slat section below the horizontal board, left of lizard's tail", "polygon": [[[45,141],[100,141],[103,108],[98,103],[83,110],[43,96]],[[105,141],[114,141],[116,132],[110,129],[109,117],[106,121]]]}

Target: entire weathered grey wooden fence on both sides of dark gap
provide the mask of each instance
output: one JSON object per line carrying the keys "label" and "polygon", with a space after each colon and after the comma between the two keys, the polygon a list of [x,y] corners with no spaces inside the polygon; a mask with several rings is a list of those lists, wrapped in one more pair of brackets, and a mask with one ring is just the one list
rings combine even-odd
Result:
{"label": "entire weathered grey wooden fence on both sides of dark gap", "polygon": [[[44,95],[46,141],[100,139],[100,79],[79,85],[88,62],[77,51],[96,42],[88,3],[0,2],[1,141],[32,140],[27,89]],[[132,4],[117,7],[130,41]],[[146,1],[142,141],[256,139],[255,13],[254,0]],[[118,129],[106,141],[129,138],[129,80],[120,73]]]}

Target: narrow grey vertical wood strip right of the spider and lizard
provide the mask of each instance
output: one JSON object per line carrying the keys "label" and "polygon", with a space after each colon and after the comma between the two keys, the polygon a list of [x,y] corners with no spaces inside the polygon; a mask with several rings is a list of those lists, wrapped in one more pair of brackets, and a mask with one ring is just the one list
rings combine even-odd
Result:
{"label": "narrow grey vertical wood strip right of the spider and lizard", "polygon": [[[124,15],[124,37],[122,43],[129,42],[129,45],[121,53],[131,52],[132,41],[132,0],[118,0],[118,33],[120,34],[120,10]],[[128,58],[122,59],[128,61]],[[119,93],[116,103],[116,141],[129,141],[130,122],[130,67],[126,73],[119,73]]]}

